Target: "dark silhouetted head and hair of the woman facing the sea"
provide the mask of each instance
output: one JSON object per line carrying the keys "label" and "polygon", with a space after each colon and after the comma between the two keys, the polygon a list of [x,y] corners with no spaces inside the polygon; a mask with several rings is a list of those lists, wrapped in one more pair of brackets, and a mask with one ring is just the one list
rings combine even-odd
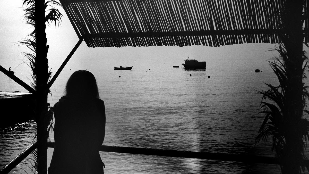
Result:
{"label": "dark silhouetted head and hair of the woman facing the sea", "polygon": [[70,98],[99,98],[95,76],[89,71],[75,71],[66,83],[66,96]]}

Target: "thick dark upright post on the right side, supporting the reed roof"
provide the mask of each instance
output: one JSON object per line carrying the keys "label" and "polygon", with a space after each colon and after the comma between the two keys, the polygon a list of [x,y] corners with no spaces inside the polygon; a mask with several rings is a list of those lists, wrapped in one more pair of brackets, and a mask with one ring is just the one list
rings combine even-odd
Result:
{"label": "thick dark upright post on the right side, supporting the reed roof", "polygon": [[[282,174],[300,173],[303,151],[303,133],[299,128],[303,116],[303,0],[287,0],[281,12],[281,25],[287,32],[282,36],[287,59],[284,64],[287,83],[285,86],[285,147],[282,154]],[[306,132],[307,133],[307,130]]]}

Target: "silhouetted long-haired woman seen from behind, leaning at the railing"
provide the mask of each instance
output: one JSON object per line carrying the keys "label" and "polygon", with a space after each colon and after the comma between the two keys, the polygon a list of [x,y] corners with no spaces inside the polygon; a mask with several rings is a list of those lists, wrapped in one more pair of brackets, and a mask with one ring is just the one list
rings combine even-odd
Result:
{"label": "silhouetted long-haired woman seen from behind, leaning at the railing", "polygon": [[55,148],[49,174],[104,173],[99,147],[104,141],[105,107],[91,72],[74,72],[66,94],[54,105]]}

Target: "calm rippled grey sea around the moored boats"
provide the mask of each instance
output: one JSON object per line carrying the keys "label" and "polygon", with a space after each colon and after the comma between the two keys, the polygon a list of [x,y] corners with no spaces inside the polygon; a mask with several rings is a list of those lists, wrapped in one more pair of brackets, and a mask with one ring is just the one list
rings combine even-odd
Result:
{"label": "calm rippled grey sea around the moored boats", "polygon": [[[66,80],[75,70],[87,69],[95,75],[105,102],[103,145],[273,156],[269,144],[254,145],[264,119],[258,111],[262,96],[255,90],[267,89],[264,82],[277,85],[269,58],[233,56],[224,60],[190,57],[206,61],[206,70],[185,70],[181,63],[186,55],[108,61],[76,58],[52,86],[49,102],[53,106],[63,95]],[[117,71],[113,66],[133,66],[133,70]],[[17,86],[0,77],[8,82],[2,84],[2,91]],[[31,143],[34,130],[33,122],[2,130],[0,167]],[[50,160],[52,149],[48,153]],[[280,173],[279,166],[268,164],[100,154],[105,173]],[[20,164],[12,173],[23,173],[20,168],[25,166]]]}

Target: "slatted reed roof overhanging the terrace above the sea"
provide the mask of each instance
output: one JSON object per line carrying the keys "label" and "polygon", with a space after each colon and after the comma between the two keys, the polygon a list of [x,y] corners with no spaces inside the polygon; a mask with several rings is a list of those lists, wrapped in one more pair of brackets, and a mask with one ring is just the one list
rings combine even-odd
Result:
{"label": "slatted reed roof overhanging the terrace above the sea", "polygon": [[89,47],[277,43],[282,1],[60,0]]}

